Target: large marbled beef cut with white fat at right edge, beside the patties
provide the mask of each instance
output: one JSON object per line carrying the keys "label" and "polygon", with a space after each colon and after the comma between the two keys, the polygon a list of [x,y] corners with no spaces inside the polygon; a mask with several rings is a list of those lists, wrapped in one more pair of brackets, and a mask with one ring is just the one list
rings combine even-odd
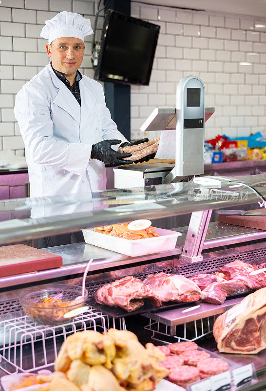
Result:
{"label": "large marbled beef cut with white fat at right edge, beside the patties", "polygon": [[266,288],[220,315],[213,326],[220,352],[254,354],[266,348]]}

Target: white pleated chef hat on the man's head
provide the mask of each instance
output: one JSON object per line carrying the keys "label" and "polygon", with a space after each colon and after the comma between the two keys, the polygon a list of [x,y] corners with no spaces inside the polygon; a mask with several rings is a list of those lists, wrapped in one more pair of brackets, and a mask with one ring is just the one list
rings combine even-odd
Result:
{"label": "white pleated chef hat on the man's head", "polygon": [[50,21],[45,21],[40,36],[52,43],[57,38],[74,37],[84,42],[84,37],[93,34],[90,19],[85,19],[74,12],[59,12]]}

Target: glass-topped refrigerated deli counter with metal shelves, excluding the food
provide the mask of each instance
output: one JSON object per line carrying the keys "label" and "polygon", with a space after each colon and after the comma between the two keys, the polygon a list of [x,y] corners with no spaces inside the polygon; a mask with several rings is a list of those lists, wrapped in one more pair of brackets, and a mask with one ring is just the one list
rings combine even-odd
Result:
{"label": "glass-topped refrigerated deli counter with metal shelves, excluding the food", "polygon": [[[215,273],[236,260],[252,265],[266,262],[266,229],[210,222],[211,214],[218,209],[239,210],[243,205],[256,204],[263,211],[265,185],[265,174],[219,176],[209,183],[190,181],[78,196],[0,201],[1,246],[135,219],[150,219],[152,226],[157,227],[163,219],[191,214],[189,226],[171,228],[180,233],[172,250],[131,257],[85,242],[72,243],[42,249],[62,257],[59,267],[42,265],[38,271],[0,274],[0,375],[53,370],[58,350],[68,335],[85,329],[102,332],[114,327],[133,331],[143,344],[193,341],[211,357],[228,362],[227,377],[217,378],[220,388],[209,380],[208,384],[205,380],[204,386],[202,380],[190,384],[190,391],[264,390],[266,350],[257,354],[219,353],[212,334],[216,318],[241,303],[250,292],[229,295],[222,304],[198,301],[152,310],[144,307],[127,314],[116,311],[115,307],[110,307],[113,312],[95,307],[93,298],[99,287],[126,276],[143,281],[148,275],[164,272],[188,278]],[[81,285],[90,259],[93,262],[85,281],[89,307],[86,312],[58,326],[40,325],[25,314],[19,292],[51,283]],[[238,382],[240,368],[247,371],[247,376]]]}

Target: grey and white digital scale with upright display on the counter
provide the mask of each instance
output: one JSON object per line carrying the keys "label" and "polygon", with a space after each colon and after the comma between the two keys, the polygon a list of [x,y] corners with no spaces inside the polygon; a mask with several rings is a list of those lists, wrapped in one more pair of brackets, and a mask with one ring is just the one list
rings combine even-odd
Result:
{"label": "grey and white digital scale with upright display on the counter", "polygon": [[154,163],[114,168],[117,189],[190,180],[204,172],[204,124],[214,113],[205,108],[205,88],[196,76],[186,76],[176,88],[176,108],[156,108],[142,131],[176,130],[175,165]]}

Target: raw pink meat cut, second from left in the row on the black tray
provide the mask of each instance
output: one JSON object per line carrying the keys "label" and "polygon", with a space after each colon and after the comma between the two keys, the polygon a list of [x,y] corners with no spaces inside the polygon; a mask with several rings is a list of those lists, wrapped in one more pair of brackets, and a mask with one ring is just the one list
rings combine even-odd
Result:
{"label": "raw pink meat cut, second from left in the row on the black tray", "polygon": [[159,300],[153,300],[152,304],[160,306],[161,302],[195,302],[201,297],[198,285],[179,274],[157,273],[149,274],[144,280],[153,296]]}

